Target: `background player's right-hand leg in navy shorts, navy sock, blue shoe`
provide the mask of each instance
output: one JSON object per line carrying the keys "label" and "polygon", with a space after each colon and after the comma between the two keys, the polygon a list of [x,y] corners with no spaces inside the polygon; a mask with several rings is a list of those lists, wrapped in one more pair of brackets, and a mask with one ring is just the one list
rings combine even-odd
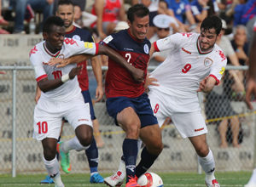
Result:
{"label": "background player's right-hand leg in navy shorts, navy sock, blue shoe", "polygon": [[[89,103],[90,105],[90,119],[93,123],[93,126],[97,123],[96,116],[94,113],[92,101],[90,99],[90,93],[88,90],[82,92],[84,97],[84,103]],[[98,123],[97,123],[98,125]],[[94,127],[93,127],[94,128]],[[98,148],[96,146],[96,139],[95,136],[93,137],[90,147],[85,150],[85,154],[87,156],[87,160],[90,167],[90,183],[103,183],[104,179],[98,173]]]}

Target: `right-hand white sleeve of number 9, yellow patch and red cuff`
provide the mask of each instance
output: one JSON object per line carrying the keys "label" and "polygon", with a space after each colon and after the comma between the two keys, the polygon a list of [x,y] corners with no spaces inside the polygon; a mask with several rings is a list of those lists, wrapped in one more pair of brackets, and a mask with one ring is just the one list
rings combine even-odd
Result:
{"label": "right-hand white sleeve of number 9, yellow patch and red cuff", "polygon": [[223,51],[219,49],[215,59],[216,60],[213,62],[209,76],[215,78],[216,84],[218,85],[224,74],[227,65],[227,58],[225,57]]}

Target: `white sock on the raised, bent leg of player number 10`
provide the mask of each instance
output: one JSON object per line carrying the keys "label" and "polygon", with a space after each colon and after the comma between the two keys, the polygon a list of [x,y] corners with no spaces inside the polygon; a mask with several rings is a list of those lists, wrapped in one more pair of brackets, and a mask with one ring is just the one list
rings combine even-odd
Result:
{"label": "white sock on the raised, bent leg of player number 10", "polygon": [[75,136],[73,139],[69,139],[61,144],[61,151],[67,153],[69,150],[87,150],[89,147],[90,145],[84,147],[82,144],[80,144],[79,139]]}

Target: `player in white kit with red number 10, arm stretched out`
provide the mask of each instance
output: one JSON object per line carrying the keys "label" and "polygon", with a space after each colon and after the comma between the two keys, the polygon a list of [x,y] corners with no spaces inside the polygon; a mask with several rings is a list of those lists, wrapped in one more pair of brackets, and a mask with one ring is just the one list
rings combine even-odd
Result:
{"label": "player in white kit with red number 10, arm stretched out", "polygon": [[143,79],[143,71],[127,65],[125,59],[113,49],[94,42],[64,37],[65,31],[64,21],[60,17],[49,17],[44,23],[44,41],[39,42],[30,52],[38,87],[42,90],[34,110],[33,138],[42,142],[44,165],[56,187],[64,186],[56,159],[62,117],[72,125],[76,134],[69,144],[65,144],[63,150],[86,150],[92,141],[93,129],[89,104],[84,103],[76,77],[81,71],[81,66],[49,66],[49,59],[57,56],[69,57],[73,54],[87,54],[87,58],[96,54],[106,54],[130,71],[137,81]]}

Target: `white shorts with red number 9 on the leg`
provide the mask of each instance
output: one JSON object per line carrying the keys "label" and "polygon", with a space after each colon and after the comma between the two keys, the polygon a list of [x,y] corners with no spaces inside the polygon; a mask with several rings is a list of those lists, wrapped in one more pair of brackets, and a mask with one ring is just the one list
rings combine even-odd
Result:
{"label": "white shorts with red number 9 on the leg", "polygon": [[166,117],[171,117],[172,122],[183,139],[208,132],[201,111],[177,112],[175,104],[173,104],[176,100],[175,97],[172,98],[172,96],[159,92],[156,94],[154,91],[149,91],[148,98],[160,127],[165,122]]}

